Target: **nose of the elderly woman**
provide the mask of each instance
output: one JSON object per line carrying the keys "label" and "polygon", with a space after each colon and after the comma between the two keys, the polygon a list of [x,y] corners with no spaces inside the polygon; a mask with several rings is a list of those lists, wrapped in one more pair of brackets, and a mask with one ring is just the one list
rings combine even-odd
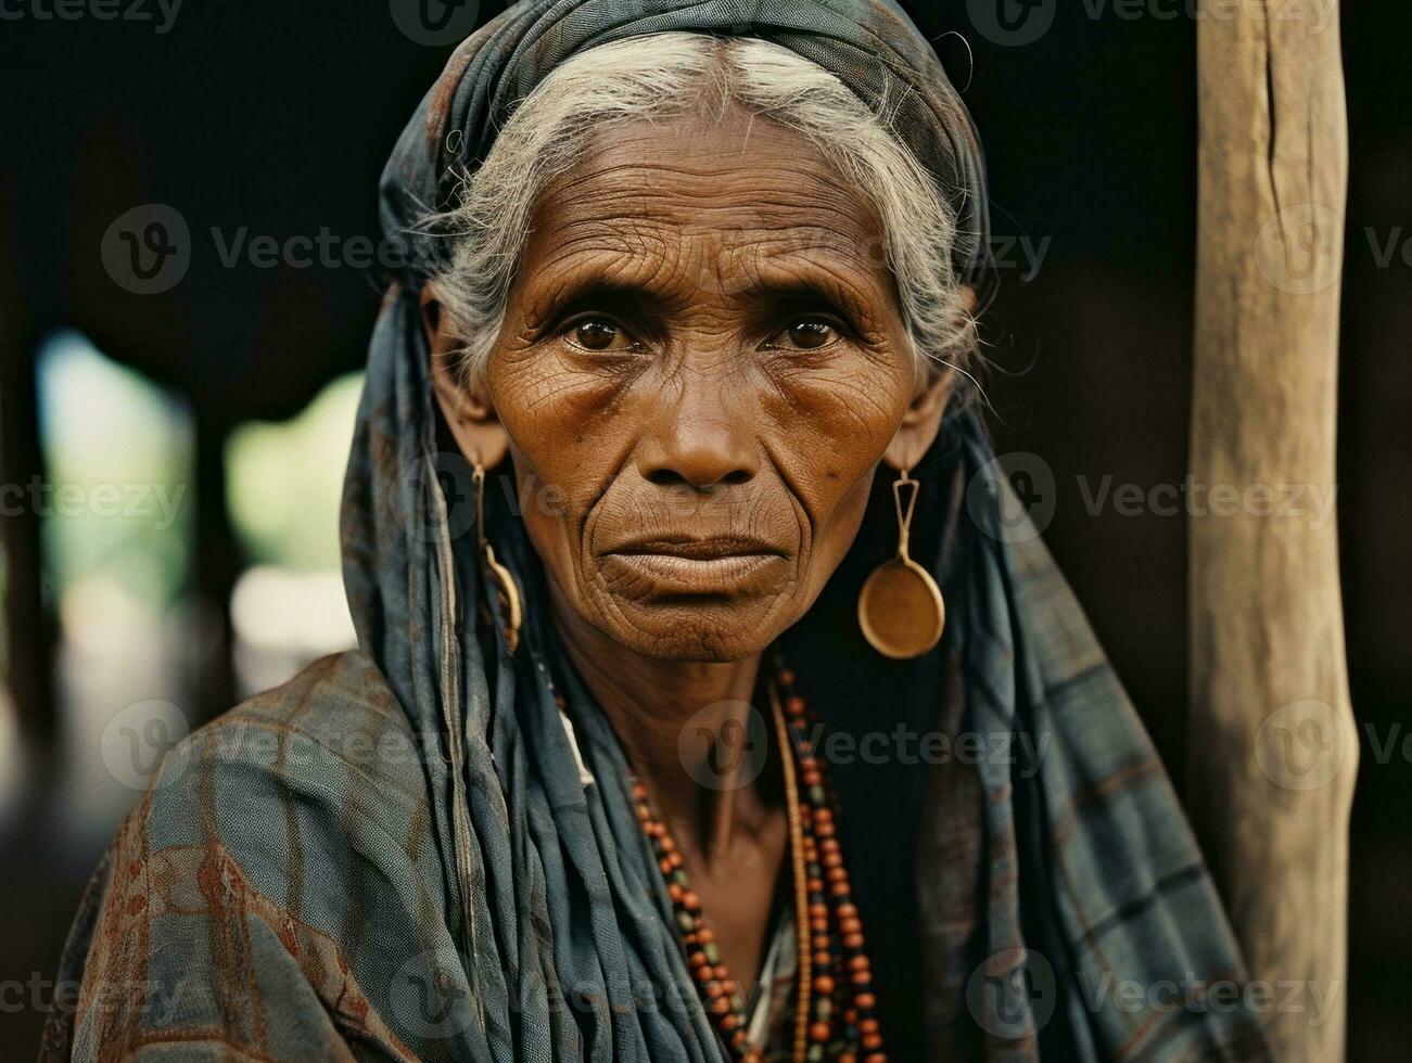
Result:
{"label": "nose of the elderly woman", "polygon": [[760,472],[755,426],[748,404],[731,392],[730,381],[698,377],[664,394],[638,445],[642,479],[698,491],[754,479]]}

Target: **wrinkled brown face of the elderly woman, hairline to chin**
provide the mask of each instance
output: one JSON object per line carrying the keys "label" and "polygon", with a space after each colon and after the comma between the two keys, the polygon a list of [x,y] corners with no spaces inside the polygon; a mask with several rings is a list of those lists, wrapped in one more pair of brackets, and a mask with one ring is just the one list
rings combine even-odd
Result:
{"label": "wrinkled brown face of the elderly woman, hairline to chin", "polygon": [[541,198],[479,424],[438,391],[463,446],[503,433],[561,621],[726,661],[809,608],[884,452],[935,438],[928,377],[870,209],[736,113],[594,137]]}

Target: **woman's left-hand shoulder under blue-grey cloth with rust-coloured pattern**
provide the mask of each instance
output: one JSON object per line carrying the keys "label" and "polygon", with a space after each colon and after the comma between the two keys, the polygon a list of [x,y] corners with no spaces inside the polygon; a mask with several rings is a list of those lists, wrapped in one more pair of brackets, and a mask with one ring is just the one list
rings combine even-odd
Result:
{"label": "woman's left-hand shoulder under blue-grey cloth with rust-coloured pattern", "polygon": [[370,971],[446,937],[428,802],[412,728],[356,652],[192,731],[89,884],[59,974],[78,994],[41,1057],[412,1057]]}

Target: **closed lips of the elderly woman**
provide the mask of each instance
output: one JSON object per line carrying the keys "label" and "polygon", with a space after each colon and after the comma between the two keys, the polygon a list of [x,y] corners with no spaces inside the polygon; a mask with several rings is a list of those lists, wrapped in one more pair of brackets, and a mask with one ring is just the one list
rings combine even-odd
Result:
{"label": "closed lips of the elderly woman", "polygon": [[644,539],[602,558],[611,582],[645,582],[654,594],[751,594],[775,586],[788,565],[757,539]]}

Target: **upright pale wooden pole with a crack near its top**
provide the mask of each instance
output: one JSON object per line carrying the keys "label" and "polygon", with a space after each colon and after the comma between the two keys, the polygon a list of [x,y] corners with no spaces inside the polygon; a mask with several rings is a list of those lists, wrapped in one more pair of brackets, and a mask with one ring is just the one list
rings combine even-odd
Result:
{"label": "upright pale wooden pole with a crack near its top", "polygon": [[[1202,0],[1189,806],[1276,1059],[1344,1052],[1348,700],[1333,515],[1337,0]],[[1292,995],[1291,995],[1292,994]]]}

